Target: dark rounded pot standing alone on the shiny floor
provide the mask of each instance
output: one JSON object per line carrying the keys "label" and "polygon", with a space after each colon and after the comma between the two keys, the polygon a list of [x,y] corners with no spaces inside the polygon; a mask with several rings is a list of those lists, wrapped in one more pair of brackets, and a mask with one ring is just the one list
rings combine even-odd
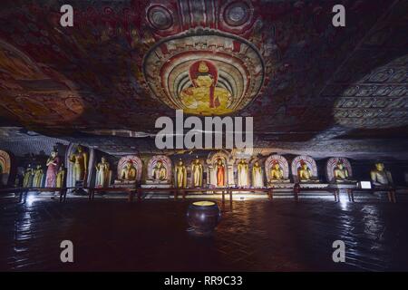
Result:
{"label": "dark rounded pot standing alone on the shiny floor", "polygon": [[219,224],[221,212],[214,201],[196,201],[189,205],[187,220],[198,236],[207,236]]}

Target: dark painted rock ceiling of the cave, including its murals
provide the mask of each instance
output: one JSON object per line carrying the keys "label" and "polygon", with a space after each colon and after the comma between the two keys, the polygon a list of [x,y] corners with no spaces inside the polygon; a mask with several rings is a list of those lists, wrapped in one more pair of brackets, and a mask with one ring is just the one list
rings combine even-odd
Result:
{"label": "dark painted rock ceiling of the cave, including its murals", "polygon": [[259,148],[407,156],[408,4],[340,1],[334,27],[338,2],[70,1],[61,27],[61,1],[2,1],[0,125],[124,153],[183,109],[254,117]]}

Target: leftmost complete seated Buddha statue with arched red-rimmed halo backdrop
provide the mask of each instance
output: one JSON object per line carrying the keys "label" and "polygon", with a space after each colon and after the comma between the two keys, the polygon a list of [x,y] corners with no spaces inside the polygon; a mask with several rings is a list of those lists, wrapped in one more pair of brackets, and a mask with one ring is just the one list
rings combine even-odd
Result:
{"label": "leftmost complete seated Buddha statue with arched red-rimmed halo backdrop", "polygon": [[141,159],[136,155],[127,155],[118,162],[118,178],[114,187],[134,187],[141,182]]}

